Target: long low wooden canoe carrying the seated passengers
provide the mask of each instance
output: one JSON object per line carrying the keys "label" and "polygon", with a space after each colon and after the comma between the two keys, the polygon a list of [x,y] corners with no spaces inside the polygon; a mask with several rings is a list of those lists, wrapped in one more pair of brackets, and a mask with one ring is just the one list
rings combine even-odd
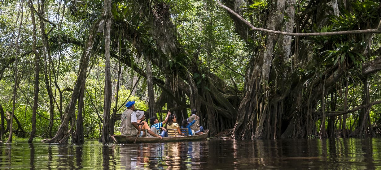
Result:
{"label": "long low wooden canoe carrying the seated passengers", "polygon": [[111,135],[110,137],[115,143],[165,143],[165,142],[178,142],[178,141],[200,141],[205,140],[208,137],[209,130],[204,130],[204,133],[195,136],[181,136],[181,137],[163,137],[159,139],[157,137],[128,137],[122,135]]}

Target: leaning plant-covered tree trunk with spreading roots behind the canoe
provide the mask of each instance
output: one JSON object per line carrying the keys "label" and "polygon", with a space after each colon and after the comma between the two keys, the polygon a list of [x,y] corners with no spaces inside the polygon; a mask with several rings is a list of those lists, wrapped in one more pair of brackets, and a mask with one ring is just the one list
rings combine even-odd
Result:
{"label": "leaning plant-covered tree trunk with spreading roots behind the canoe", "polygon": [[[208,68],[200,67],[202,61],[197,56],[192,56],[192,54],[188,54],[184,50],[184,47],[179,43],[181,37],[179,37],[177,29],[170,19],[168,5],[154,1],[154,5],[150,8],[151,3],[147,0],[139,0],[138,3],[141,7],[140,11],[145,14],[142,17],[147,18],[144,20],[147,20],[147,26],[150,27],[149,33],[153,35],[157,47],[144,43],[146,40],[143,41],[139,36],[133,36],[138,32],[131,27],[126,27],[129,36],[125,38],[131,44],[134,44],[137,51],[143,54],[144,57],[148,55],[155,56],[149,58],[152,60],[152,64],[157,65],[157,68],[161,69],[169,79],[173,80],[174,86],[172,89],[179,89],[179,92],[184,92],[189,97],[190,108],[198,110],[200,123],[210,129],[211,135],[222,130],[221,127],[223,129],[232,128],[237,113],[236,106],[233,106],[224,96],[234,94],[237,90],[227,86],[226,83],[212,74]],[[150,50],[150,54],[145,54],[147,49],[157,50]],[[171,61],[171,63],[163,61]],[[146,76],[146,73],[142,73],[135,67],[134,70]],[[205,75],[205,77],[201,75]],[[159,82],[157,79],[154,79],[154,83],[158,84],[163,90],[170,92],[169,95],[176,98],[176,102],[181,103],[180,107],[189,108],[186,103],[179,102],[180,100],[177,99],[177,96],[182,96],[182,94],[173,94],[176,91],[165,89],[164,82]]]}

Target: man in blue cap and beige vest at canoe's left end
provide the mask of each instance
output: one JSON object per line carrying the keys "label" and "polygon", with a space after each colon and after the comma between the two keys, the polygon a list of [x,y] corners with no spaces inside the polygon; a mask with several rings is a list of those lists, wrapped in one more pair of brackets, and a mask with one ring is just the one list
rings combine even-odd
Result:
{"label": "man in blue cap and beige vest at canoe's left end", "polygon": [[139,137],[145,136],[145,132],[141,131],[139,125],[143,123],[138,123],[136,118],[135,101],[129,101],[126,103],[127,110],[122,113],[122,122],[120,122],[120,133],[122,135],[132,135],[135,136],[139,134]]}

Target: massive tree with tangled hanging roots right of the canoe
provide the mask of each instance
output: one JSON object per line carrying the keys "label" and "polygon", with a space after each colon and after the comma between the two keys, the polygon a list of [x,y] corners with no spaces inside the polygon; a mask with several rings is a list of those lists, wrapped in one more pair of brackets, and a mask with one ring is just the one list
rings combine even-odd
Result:
{"label": "massive tree with tangled hanging roots right of the canoe", "polygon": [[[293,17],[290,17],[295,14],[295,9],[291,9],[295,1],[287,0],[285,5],[285,0],[275,0],[267,4],[266,11],[262,11],[262,13],[269,13],[266,14],[267,19],[257,19],[257,22],[259,20],[260,23],[267,24],[265,25],[267,28],[265,30],[266,42],[264,46],[255,46],[249,43],[250,46],[254,46],[254,51],[258,48],[259,52],[254,52],[255,55],[251,57],[247,66],[244,93],[238,109],[239,116],[237,117],[232,138],[296,138],[316,135],[315,122],[319,118],[321,118],[322,125],[319,136],[327,136],[325,130],[325,94],[337,91],[335,83],[341,81],[341,78],[347,75],[347,70],[356,68],[355,65],[348,61],[346,64],[338,64],[339,66],[334,64],[331,68],[324,68],[325,70],[323,68],[314,69],[317,61],[314,57],[317,51],[308,48],[304,43],[305,41],[301,41],[299,38],[296,38],[295,44],[292,44],[291,37],[279,36],[280,38],[277,38],[277,35],[272,34],[276,31],[291,33],[293,32],[293,25],[296,26],[296,32],[298,33],[296,36],[299,36],[300,32],[315,32],[315,25],[317,29],[323,28],[324,25],[330,22],[326,17],[328,14],[334,14],[335,16],[339,14],[337,2],[333,1],[330,4],[332,8],[327,5],[327,2],[327,0],[308,2],[305,11],[297,11],[300,18],[296,25]],[[251,4],[243,4],[243,1],[239,0],[227,0],[224,3],[235,13],[241,15],[242,8],[245,8],[245,5],[251,6]],[[226,6],[221,4],[220,6],[227,9]],[[285,8],[286,10],[284,10]],[[250,39],[248,35],[252,35],[250,31],[247,31],[242,26],[243,24],[249,25],[253,30],[264,30],[250,25],[247,21],[243,22],[242,17],[238,17],[230,9],[227,10],[231,13],[236,31],[243,40],[247,41]],[[284,19],[283,13],[288,14],[287,20]],[[247,17],[248,13],[245,14],[245,17]],[[280,28],[279,25],[285,25],[285,27]],[[371,26],[368,21],[368,23],[360,25],[359,29],[370,28],[374,28],[374,25]],[[371,39],[370,34],[351,36],[364,41],[364,44],[368,44],[367,42]],[[318,38],[307,37],[300,39],[314,41]],[[256,41],[254,38],[252,40]],[[262,42],[259,41],[258,43],[261,44]],[[295,45],[293,57],[291,57],[291,45]],[[327,48],[330,50],[331,47]],[[367,51],[367,49],[358,45],[352,52],[361,53]],[[314,54],[311,54],[312,51]],[[363,52],[363,54],[365,53]],[[302,69],[300,70],[302,72],[304,69],[316,72],[315,75],[311,73],[309,75],[306,73],[300,74],[298,69]],[[322,101],[322,108],[320,108],[319,114],[316,114],[315,110],[319,101]],[[332,122],[334,123],[334,121]],[[282,135],[280,136],[280,134]]]}

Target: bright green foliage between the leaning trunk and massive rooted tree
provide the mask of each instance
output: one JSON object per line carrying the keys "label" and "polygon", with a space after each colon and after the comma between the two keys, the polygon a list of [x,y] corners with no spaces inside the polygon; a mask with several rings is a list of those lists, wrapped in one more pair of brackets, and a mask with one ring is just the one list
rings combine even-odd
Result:
{"label": "bright green foliage between the leaning trunk and massive rooted tree", "polygon": [[[246,56],[248,49],[233,33],[234,28],[229,16],[225,15],[224,10],[218,8],[213,1],[179,4],[175,9],[184,8],[188,9],[171,12],[175,16],[174,21],[182,37],[180,43],[184,45],[185,51],[188,54],[197,54],[202,62],[201,68],[211,70],[232,87],[235,82],[238,88],[243,88],[242,77],[234,71],[244,74],[248,62]],[[170,60],[169,64],[173,68],[178,62],[179,60]],[[185,60],[185,63],[189,62]],[[184,62],[181,64],[184,65]],[[179,64],[179,67],[182,66]],[[203,81],[200,81],[202,80],[200,77],[196,75],[195,82],[200,88],[207,88]]]}

